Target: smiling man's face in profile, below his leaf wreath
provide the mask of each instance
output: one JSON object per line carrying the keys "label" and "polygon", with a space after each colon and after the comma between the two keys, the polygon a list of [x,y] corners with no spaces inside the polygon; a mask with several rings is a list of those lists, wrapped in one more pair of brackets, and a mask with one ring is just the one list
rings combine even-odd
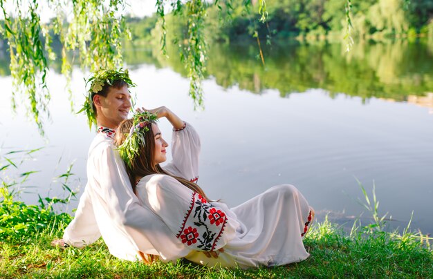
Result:
{"label": "smiling man's face in profile, below his leaf wreath", "polygon": [[95,95],[93,98],[98,111],[98,124],[108,128],[117,128],[122,120],[127,119],[131,109],[131,94],[128,87],[110,87],[107,97]]}

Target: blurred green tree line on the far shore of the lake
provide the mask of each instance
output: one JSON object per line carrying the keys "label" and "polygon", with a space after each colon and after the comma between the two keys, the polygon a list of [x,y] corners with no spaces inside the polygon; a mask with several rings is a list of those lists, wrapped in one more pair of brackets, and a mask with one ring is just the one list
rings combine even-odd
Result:
{"label": "blurred green tree line on the far shore of the lake", "polygon": [[[243,41],[254,36],[261,39],[339,39],[345,32],[346,0],[267,1],[266,23],[260,23],[257,13],[246,9],[244,1],[233,0],[230,6],[207,4],[205,32],[210,41]],[[353,39],[433,36],[432,0],[362,0],[351,3]],[[156,15],[127,21],[134,41],[150,41],[163,32]],[[185,37],[185,17],[167,15],[165,24],[169,30],[167,39],[177,42]]]}

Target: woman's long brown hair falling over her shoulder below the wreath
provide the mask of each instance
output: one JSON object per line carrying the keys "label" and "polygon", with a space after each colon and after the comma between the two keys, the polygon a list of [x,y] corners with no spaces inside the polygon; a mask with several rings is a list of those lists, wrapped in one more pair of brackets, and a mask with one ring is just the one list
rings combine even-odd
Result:
{"label": "woman's long brown hair falling over her shoulder below the wreath", "polygon": [[[133,124],[133,119],[125,119],[123,120],[116,130],[115,144],[116,146],[120,146],[123,142],[125,142],[127,135],[129,135],[129,131],[131,131],[131,127]],[[156,123],[151,122],[151,125],[156,125]],[[155,135],[152,128],[149,127],[149,131],[145,133],[145,145],[140,145],[139,155],[131,160],[131,164],[127,164],[125,162],[125,166],[127,168],[127,173],[129,176],[129,180],[131,181],[133,192],[136,193],[136,184],[141,177],[145,177],[146,175],[152,174],[165,174],[173,177],[178,182],[186,186],[188,189],[199,193],[203,198],[209,200],[205,195],[203,190],[199,185],[185,180],[182,177],[178,177],[167,173],[160,167],[159,164],[155,164],[154,162],[154,152],[155,152]]]}

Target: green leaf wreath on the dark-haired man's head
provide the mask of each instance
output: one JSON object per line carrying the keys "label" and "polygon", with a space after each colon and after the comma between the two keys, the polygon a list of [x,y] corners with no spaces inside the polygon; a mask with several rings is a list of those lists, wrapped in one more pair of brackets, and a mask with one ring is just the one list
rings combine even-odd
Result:
{"label": "green leaf wreath on the dark-haired man's head", "polygon": [[90,84],[90,88],[87,91],[86,100],[84,101],[83,107],[78,113],[86,113],[87,120],[89,122],[89,128],[92,128],[93,124],[95,124],[95,126],[97,125],[95,111],[93,110],[92,94],[98,94],[104,85],[108,84],[111,86],[116,80],[125,81],[128,87],[136,86],[136,84],[131,81],[131,78],[129,78],[128,70],[123,70],[122,68],[118,70],[98,70],[95,75],[89,77],[89,79],[86,80],[86,87],[88,84]]}

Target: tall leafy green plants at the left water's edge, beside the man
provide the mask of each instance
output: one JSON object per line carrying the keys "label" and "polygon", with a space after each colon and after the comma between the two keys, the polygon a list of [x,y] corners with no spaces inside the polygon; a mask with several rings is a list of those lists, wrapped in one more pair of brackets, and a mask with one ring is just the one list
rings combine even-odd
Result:
{"label": "tall leafy green plants at the left water's edge, beside the man", "polygon": [[[54,210],[56,204],[68,204],[75,192],[68,187],[68,177],[73,175],[71,164],[65,173],[57,179],[64,191],[68,192],[66,198],[42,198],[39,196],[39,204],[26,204],[19,200],[21,192],[25,191],[26,181],[37,171],[20,172],[20,166],[27,160],[33,159],[33,153],[42,148],[10,151],[1,155],[0,160],[0,241],[21,241],[28,239],[29,235],[35,235],[40,231],[50,229],[51,231],[63,228],[64,224],[71,222],[71,215],[57,213]],[[9,169],[15,171],[8,172]],[[13,173],[10,175],[10,173]]]}

